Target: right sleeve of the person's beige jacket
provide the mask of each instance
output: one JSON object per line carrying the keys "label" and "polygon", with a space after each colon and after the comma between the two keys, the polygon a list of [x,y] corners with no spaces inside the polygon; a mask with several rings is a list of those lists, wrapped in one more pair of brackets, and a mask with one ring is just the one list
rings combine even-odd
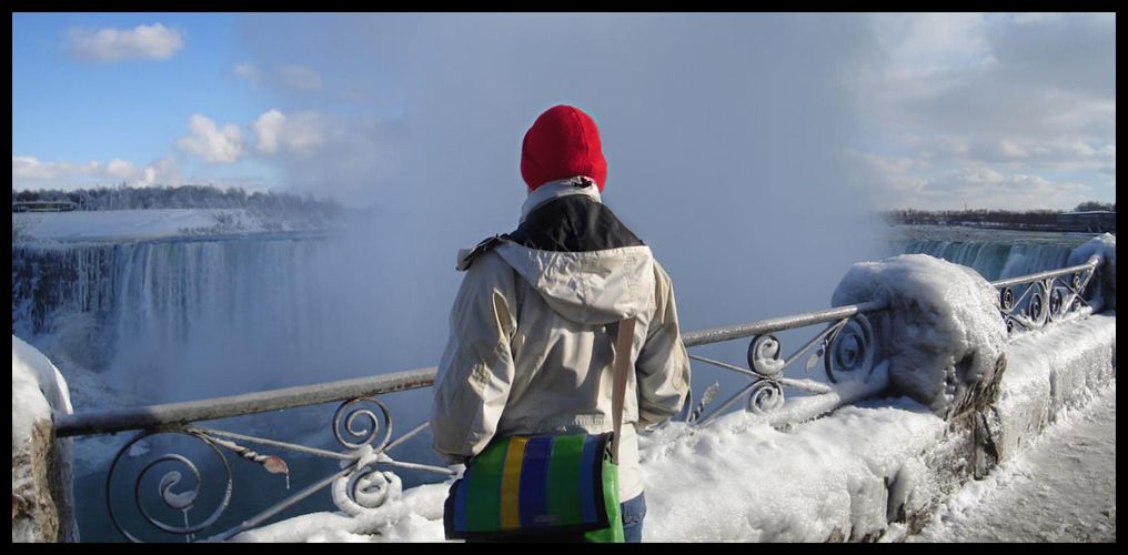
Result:
{"label": "right sleeve of the person's beige jacket", "polygon": [[681,343],[673,285],[654,262],[654,316],[635,362],[638,381],[638,425],[660,424],[681,411],[689,393],[689,355]]}

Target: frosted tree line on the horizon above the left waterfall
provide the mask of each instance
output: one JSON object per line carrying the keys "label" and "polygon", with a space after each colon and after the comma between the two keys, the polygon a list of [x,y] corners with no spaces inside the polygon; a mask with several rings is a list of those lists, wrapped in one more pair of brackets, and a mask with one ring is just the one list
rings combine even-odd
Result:
{"label": "frosted tree line on the horizon above the left waterfall", "polygon": [[146,209],[247,209],[266,213],[302,213],[307,217],[332,218],[341,211],[333,199],[315,199],[291,193],[252,192],[241,187],[220,188],[212,185],[156,187],[79,188],[73,191],[38,190],[11,192],[17,201],[70,201],[78,210],[146,210]]}

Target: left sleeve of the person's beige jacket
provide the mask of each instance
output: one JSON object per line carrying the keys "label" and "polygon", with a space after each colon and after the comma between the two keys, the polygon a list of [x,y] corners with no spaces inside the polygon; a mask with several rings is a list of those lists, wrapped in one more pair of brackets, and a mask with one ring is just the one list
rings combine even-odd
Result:
{"label": "left sleeve of the person's beige jacket", "polygon": [[493,253],[478,256],[450,311],[431,412],[432,447],[448,464],[482,452],[497,430],[513,382],[515,307],[513,271]]}

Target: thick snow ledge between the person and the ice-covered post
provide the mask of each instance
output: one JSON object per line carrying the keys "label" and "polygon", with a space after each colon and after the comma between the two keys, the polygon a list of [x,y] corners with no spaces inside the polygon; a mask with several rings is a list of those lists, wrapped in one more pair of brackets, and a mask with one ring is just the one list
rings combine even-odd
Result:
{"label": "thick snow ledge between the person and the ice-covered post", "polygon": [[902,469],[919,467],[945,430],[907,398],[844,407],[786,432],[750,416],[691,435],[673,424],[642,442],[644,540],[873,539],[888,527],[887,485],[911,481]]}

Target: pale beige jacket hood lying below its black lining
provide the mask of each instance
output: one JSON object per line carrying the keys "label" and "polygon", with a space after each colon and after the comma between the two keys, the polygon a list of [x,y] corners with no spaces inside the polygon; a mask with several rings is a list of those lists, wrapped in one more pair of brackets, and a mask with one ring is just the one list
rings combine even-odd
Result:
{"label": "pale beige jacket hood lying below its black lining", "polygon": [[654,258],[645,245],[569,253],[503,239],[495,252],[554,311],[580,324],[638,316],[654,294]]}

